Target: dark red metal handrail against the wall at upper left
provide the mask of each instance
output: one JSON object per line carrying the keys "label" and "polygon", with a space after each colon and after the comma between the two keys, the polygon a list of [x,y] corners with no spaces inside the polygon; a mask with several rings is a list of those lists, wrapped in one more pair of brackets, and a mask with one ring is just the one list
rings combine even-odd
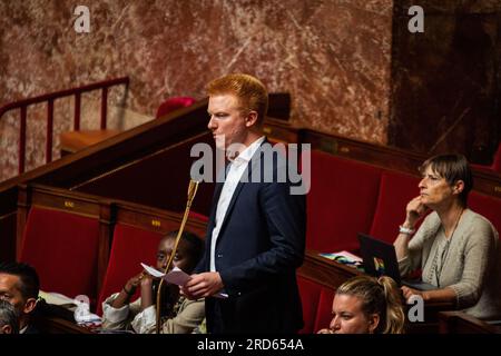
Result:
{"label": "dark red metal handrail against the wall at upper left", "polygon": [[92,91],[101,89],[101,130],[106,129],[107,113],[108,113],[108,88],[125,85],[128,88],[129,77],[121,77],[116,79],[109,79],[104,81],[98,81],[91,85],[76,87],[71,89],[65,89],[60,91],[55,91],[50,93],[45,93],[38,97],[22,99],[18,101],[10,102],[0,108],[0,120],[3,113],[20,109],[20,126],[19,126],[19,174],[24,172],[24,160],[26,160],[26,118],[27,108],[30,105],[46,102],[47,101],[47,144],[46,144],[46,162],[52,161],[52,134],[53,134],[53,101],[59,98],[75,96],[75,116],[73,116],[73,129],[76,131],[80,130],[80,103],[81,95],[87,91]]}

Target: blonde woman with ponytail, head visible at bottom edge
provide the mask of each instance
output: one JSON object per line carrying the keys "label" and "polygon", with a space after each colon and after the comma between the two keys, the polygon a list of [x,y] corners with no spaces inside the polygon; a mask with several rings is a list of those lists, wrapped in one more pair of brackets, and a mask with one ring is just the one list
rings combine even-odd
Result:
{"label": "blonde woman with ponytail, head visible at bottom edge", "polygon": [[328,328],[318,334],[403,334],[405,314],[396,283],[357,276],[343,283],[332,304]]}

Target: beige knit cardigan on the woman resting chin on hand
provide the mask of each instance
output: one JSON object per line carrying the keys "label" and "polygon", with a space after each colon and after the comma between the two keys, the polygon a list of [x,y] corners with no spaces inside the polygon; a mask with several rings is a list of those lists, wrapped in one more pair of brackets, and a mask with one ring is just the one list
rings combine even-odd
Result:
{"label": "beige knit cardigan on the woman resting chin on hand", "polygon": [[459,309],[481,319],[499,319],[501,248],[495,228],[483,216],[466,209],[442,265],[445,241],[439,215],[433,211],[409,243],[409,255],[399,261],[401,275],[422,268],[423,281],[454,289]]}

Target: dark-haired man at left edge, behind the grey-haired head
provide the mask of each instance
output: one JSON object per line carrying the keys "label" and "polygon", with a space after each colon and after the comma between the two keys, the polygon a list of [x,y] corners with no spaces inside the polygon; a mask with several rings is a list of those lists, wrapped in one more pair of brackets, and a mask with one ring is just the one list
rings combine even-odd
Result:
{"label": "dark-haired man at left edge, behind the grey-haired head", "polygon": [[19,313],[19,334],[38,334],[30,323],[40,281],[33,267],[22,263],[0,263],[0,299],[9,301]]}

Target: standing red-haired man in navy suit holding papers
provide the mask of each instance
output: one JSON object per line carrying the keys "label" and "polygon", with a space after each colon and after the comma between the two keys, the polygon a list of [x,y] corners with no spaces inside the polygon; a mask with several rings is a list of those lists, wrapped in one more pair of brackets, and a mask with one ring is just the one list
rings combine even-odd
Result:
{"label": "standing red-haired man in navy suit holding papers", "polygon": [[228,75],[208,95],[208,128],[229,165],[216,185],[205,256],[181,290],[206,297],[208,333],[296,333],[306,204],[281,179],[287,162],[262,135],[267,91],[252,76]]}

